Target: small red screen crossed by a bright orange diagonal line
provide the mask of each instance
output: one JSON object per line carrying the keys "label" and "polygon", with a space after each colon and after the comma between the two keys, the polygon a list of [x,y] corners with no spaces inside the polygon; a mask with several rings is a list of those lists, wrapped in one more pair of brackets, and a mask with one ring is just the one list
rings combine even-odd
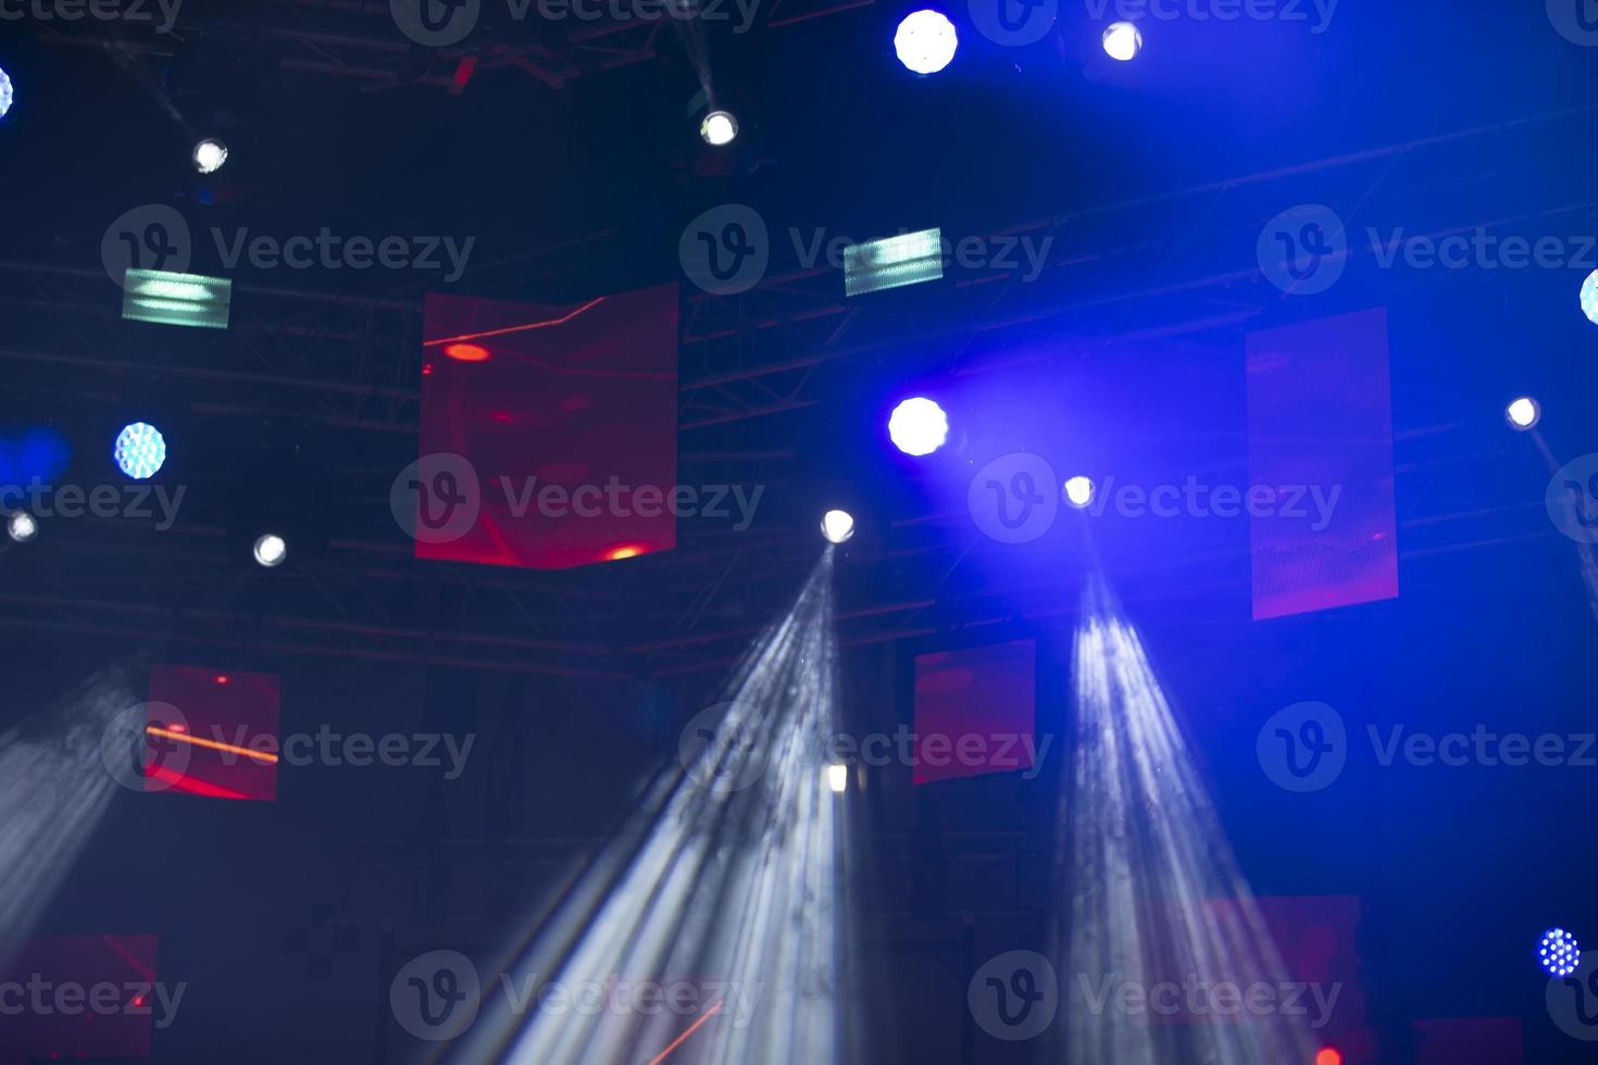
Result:
{"label": "small red screen crossed by a bright orange diagonal line", "polygon": [[[152,666],[145,790],[278,797],[278,679],[205,666]],[[176,720],[163,720],[176,717]]]}

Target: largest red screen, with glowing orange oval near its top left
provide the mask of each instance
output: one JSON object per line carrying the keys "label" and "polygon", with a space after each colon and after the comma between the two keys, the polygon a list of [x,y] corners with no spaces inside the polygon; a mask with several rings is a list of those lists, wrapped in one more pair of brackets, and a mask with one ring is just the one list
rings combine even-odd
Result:
{"label": "largest red screen, with glowing orange oval near its top left", "polygon": [[676,546],[674,284],[574,307],[430,294],[423,334],[419,559],[555,570]]}

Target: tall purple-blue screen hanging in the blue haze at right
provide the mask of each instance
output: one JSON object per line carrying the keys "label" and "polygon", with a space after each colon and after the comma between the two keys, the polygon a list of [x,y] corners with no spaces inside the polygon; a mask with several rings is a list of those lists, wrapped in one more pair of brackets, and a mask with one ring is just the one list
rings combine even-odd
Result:
{"label": "tall purple-blue screen hanging in the blue haze at right", "polygon": [[1248,335],[1254,620],[1398,596],[1387,311]]}

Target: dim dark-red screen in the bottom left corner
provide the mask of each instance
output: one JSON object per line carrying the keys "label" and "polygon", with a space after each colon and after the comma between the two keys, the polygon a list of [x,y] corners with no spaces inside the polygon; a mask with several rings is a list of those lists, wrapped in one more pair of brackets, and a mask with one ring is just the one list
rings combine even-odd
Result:
{"label": "dim dark-red screen in the bottom left corner", "polygon": [[157,990],[155,936],[38,936],[0,972],[0,1063],[149,1057],[157,1020],[182,1006]]}

